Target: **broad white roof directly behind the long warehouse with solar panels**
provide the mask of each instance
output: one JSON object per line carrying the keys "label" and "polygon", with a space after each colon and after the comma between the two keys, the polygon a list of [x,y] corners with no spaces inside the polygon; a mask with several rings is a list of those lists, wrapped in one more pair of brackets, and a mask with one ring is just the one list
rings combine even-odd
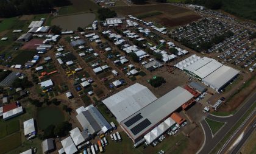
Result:
{"label": "broad white roof directly behind the long warehouse with solar panels", "polygon": [[116,120],[121,122],[156,99],[146,86],[135,83],[102,102],[115,115]]}

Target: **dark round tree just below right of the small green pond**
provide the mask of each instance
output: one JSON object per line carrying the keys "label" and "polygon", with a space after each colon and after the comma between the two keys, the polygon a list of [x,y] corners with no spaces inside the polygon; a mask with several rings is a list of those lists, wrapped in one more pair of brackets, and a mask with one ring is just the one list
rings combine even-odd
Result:
{"label": "dark round tree just below right of the small green pond", "polygon": [[69,124],[69,122],[61,122],[60,124],[57,124],[54,128],[54,135],[63,137],[68,135],[68,132],[72,129],[72,124]]}

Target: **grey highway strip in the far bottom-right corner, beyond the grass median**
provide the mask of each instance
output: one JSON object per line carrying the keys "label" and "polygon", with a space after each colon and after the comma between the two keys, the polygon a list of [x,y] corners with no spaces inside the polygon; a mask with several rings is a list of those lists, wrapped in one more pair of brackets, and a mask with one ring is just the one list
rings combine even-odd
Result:
{"label": "grey highway strip in the far bottom-right corner, beyond the grass median", "polygon": [[254,132],[254,130],[256,128],[256,127],[254,127],[255,125],[256,125],[256,119],[254,119],[254,121],[251,122],[249,127],[247,127],[247,129],[244,133],[243,139],[241,139],[241,141],[235,146],[235,149],[233,149],[232,152],[230,152],[230,154],[236,154],[239,152],[239,150],[243,146],[244,142],[246,142],[246,140],[249,138],[249,136],[252,134],[252,132]]}

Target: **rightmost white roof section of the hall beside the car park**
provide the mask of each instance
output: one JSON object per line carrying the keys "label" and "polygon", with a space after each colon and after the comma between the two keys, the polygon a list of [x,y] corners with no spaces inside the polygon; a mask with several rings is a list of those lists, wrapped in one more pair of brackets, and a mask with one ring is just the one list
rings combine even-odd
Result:
{"label": "rightmost white roof section of the hall beside the car park", "polygon": [[218,90],[222,88],[222,86],[226,85],[226,83],[233,79],[233,77],[238,73],[238,70],[223,65],[216,71],[212,72],[212,74],[205,77],[202,82]]}

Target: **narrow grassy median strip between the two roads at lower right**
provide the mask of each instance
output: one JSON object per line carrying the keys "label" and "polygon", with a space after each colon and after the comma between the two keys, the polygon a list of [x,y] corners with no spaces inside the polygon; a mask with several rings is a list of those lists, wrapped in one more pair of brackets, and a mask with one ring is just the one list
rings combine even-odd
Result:
{"label": "narrow grassy median strip between the two roads at lower right", "polygon": [[227,141],[227,139],[230,138],[230,136],[235,132],[235,130],[240,127],[240,125],[244,122],[244,120],[249,116],[249,114],[252,113],[252,111],[256,108],[256,102],[249,108],[249,110],[244,114],[243,117],[239,119],[238,122],[229,130],[229,132],[224,136],[224,138],[219,141],[219,143],[215,146],[215,148],[212,150],[211,154],[217,153],[219,149],[221,149],[222,145]]}

